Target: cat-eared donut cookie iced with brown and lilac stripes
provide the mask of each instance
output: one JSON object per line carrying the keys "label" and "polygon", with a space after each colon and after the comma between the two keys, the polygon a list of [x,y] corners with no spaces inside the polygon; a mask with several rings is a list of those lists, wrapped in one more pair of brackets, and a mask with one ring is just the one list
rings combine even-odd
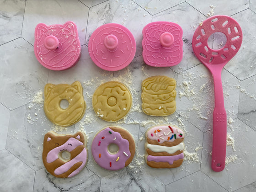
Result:
{"label": "cat-eared donut cookie iced with brown and lilac stripes", "polygon": [[48,132],[43,139],[43,164],[53,176],[66,178],[77,175],[87,163],[85,134],[59,135]]}

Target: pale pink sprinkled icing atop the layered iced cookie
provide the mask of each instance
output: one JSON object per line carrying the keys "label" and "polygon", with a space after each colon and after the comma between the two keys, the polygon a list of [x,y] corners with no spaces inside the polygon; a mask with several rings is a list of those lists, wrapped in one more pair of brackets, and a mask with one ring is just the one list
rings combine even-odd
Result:
{"label": "pale pink sprinkled icing atop the layered iced cookie", "polygon": [[[171,128],[173,130],[173,133],[171,131]],[[150,140],[156,140],[160,144],[164,143],[165,141],[173,142],[175,140],[174,134],[176,134],[176,139],[184,138],[184,133],[183,131],[181,131],[181,129],[173,126],[171,126],[171,128],[169,128],[169,125],[162,125],[150,128],[149,131],[147,132],[147,138],[149,138]],[[170,137],[169,140],[168,137]]]}

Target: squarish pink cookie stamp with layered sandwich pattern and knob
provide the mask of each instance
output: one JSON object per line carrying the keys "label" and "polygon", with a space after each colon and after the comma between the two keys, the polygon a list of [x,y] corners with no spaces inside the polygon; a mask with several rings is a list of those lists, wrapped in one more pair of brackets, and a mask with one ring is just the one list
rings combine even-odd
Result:
{"label": "squarish pink cookie stamp with layered sandwich pattern and knob", "polygon": [[182,28],[173,22],[151,22],[143,28],[143,59],[153,67],[179,64],[183,55]]}

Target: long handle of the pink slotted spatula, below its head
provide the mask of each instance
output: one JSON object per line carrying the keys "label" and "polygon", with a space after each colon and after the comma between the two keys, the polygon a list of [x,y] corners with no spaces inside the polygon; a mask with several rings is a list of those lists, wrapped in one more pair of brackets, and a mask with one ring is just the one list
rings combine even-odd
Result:
{"label": "long handle of the pink slotted spatula, below its head", "polygon": [[227,114],[224,107],[224,97],[221,82],[221,70],[213,75],[214,81],[214,110],[213,110],[213,171],[222,171],[225,168]]}

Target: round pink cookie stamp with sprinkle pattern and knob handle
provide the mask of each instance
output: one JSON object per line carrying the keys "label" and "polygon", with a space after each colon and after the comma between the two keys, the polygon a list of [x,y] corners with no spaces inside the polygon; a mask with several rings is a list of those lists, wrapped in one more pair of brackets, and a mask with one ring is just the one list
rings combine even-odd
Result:
{"label": "round pink cookie stamp with sprinkle pattern and knob handle", "polygon": [[88,43],[92,61],[101,69],[117,71],[125,68],[134,58],[136,42],[124,26],[108,23],[98,27]]}

